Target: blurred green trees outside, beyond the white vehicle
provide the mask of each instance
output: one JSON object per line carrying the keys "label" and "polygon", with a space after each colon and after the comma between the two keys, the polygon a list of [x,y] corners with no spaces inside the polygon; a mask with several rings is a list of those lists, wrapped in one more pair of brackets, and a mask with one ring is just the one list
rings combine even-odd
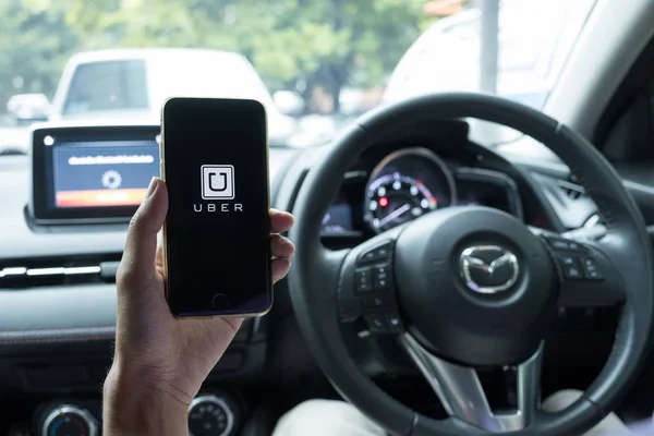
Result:
{"label": "blurred green trees outside, beyond the white vehicle", "polygon": [[[4,0],[0,1],[0,102],[51,94],[75,51],[202,47],[240,51],[270,88],[310,96],[384,83],[435,19],[425,0]],[[17,37],[20,35],[20,37]],[[14,78],[26,84],[17,89]],[[19,81],[20,82],[20,81]],[[2,105],[4,106],[4,105]]]}

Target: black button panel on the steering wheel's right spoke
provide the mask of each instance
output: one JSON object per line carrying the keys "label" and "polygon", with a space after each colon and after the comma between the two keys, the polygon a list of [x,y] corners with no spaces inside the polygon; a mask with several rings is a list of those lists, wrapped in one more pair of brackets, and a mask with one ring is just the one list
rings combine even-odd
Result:
{"label": "black button panel on the steering wheel's right spoke", "polygon": [[625,282],[601,244],[549,232],[540,232],[540,235],[556,263],[560,306],[611,306],[625,302]]}

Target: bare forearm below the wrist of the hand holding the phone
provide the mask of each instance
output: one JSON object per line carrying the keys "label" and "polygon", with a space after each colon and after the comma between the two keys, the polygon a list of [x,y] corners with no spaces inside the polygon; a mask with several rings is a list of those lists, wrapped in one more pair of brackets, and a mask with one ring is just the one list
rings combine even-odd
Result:
{"label": "bare forearm below the wrist of the hand holding the phone", "polygon": [[106,436],[189,434],[187,405],[114,363],[104,389]]}

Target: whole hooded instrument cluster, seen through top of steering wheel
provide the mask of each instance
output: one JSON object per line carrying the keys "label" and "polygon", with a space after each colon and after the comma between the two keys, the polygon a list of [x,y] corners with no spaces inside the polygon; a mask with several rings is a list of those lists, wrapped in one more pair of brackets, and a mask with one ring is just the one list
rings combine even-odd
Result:
{"label": "whole hooded instrument cluster, seen through top of steering wheel", "polygon": [[347,175],[323,220],[323,237],[364,238],[444,207],[467,205],[523,219],[518,186],[505,173],[446,161],[425,147],[401,148],[372,171]]}

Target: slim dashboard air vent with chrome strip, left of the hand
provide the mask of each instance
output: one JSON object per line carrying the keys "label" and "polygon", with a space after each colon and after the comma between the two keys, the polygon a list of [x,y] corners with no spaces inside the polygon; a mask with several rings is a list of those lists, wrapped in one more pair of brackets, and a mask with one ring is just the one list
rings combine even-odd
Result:
{"label": "slim dashboard air vent with chrome strip, left of the hand", "polygon": [[117,253],[0,262],[0,289],[113,282],[120,257]]}

